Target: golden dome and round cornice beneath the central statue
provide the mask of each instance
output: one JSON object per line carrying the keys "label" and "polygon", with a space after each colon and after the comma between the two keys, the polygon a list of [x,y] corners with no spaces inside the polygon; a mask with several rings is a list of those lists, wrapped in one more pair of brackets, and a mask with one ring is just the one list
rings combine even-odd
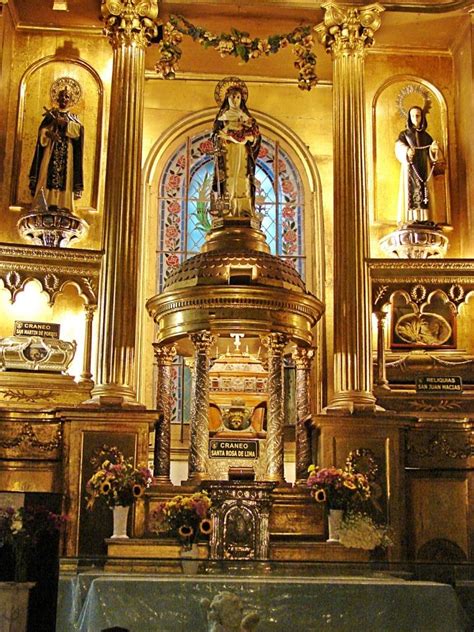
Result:
{"label": "golden dome and round cornice beneath the central statue", "polygon": [[147,302],[159,326],[158,343],[191,333],[284,333],[310,345],[324,305],[298,272],[270,254],[252,220],[220,222],[201,253],[168,277],[164,291]]}

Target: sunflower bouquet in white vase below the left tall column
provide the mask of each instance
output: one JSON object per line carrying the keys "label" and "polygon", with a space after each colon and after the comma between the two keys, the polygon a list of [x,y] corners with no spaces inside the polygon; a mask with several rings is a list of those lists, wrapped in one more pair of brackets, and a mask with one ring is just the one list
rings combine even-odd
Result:
{"label": "sunflower bouquet in white vase below the left tall column", "polygon": [[133,466],[133,457],[125,456],[116,447],[103,445],[91,458],[95,472],[87,481],[87,508],[97,500],[110,507],[129,507],[143,495],[153,480],[150,470]]}

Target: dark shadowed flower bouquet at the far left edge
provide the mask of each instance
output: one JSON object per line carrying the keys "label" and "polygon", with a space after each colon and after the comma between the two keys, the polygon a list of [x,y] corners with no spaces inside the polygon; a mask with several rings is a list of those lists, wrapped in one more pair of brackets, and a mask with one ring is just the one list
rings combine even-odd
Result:
{"label": "dark shadowed flower bouquet at the far left edge", "polygon": [[43,507],[0,507],[0,547],[11,549],[15,581],[27,581],[35,547],[44,536],[57,533],[66,520]]}

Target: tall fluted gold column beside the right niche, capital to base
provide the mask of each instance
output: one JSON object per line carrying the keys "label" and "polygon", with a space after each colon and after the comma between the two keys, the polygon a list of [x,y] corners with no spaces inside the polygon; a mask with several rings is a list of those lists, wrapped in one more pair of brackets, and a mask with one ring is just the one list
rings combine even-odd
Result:
{"label": "tall fluted gold column beside the right niche, capital to base", "polygon": [[334,396],[328,408],[374,410],[364,58],[383,7],[322,7],[316,32],[333,59]]}

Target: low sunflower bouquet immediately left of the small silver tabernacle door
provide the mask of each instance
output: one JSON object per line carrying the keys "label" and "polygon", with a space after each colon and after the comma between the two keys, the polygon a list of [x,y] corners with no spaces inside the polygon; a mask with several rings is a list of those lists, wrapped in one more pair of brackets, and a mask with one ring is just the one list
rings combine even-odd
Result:
{"label": "low sunflower bouquet immediately left of the small silver tabernacle door", "polygon": [[210,507],[211,500],[206,492],[174,496],[171,500],[159,503],[152,512],[150,530],[169,533],[177,537],[184,548],[189,549],[199,538],[208,537],[212,532]]}

